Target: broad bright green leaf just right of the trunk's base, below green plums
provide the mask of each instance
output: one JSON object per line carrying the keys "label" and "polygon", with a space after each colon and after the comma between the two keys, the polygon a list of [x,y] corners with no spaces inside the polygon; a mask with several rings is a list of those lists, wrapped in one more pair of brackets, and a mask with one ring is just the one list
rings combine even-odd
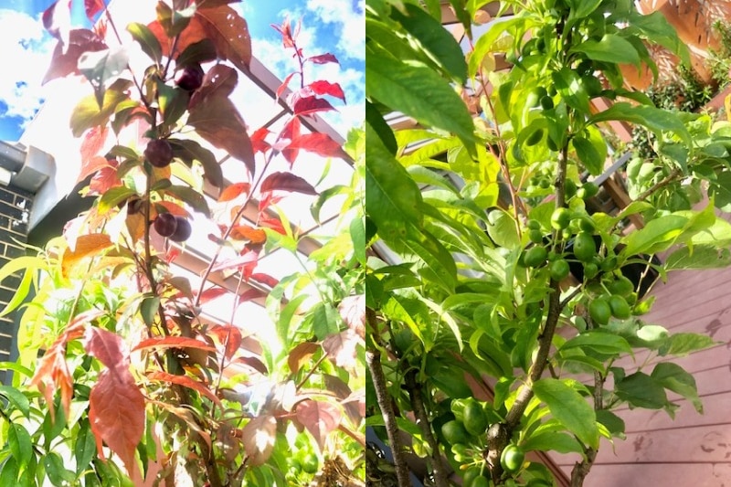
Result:
{"label": "broad bright green leaf just right of the trunk's base, below green plums", "polygon": [[554,418],[591,448],[599,447],[599,428],[594,408],[572,387],[554,378],[533,384],[535,397],[546,403]]}

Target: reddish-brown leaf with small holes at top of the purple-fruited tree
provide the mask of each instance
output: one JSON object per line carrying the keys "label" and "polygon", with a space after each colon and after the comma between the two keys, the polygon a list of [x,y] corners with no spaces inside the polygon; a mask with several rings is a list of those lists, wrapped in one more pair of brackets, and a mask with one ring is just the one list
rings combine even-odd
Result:
{"label": "reddish-brown leaf with small holes at top of the purple-fruited tree", "polygon": [[216,46],[218,58],[228,59],[242,71],[249,70],[251,37],[249,26],[238,12],[228,5],[209,8],[202,3],[194,19],[203,27]]}

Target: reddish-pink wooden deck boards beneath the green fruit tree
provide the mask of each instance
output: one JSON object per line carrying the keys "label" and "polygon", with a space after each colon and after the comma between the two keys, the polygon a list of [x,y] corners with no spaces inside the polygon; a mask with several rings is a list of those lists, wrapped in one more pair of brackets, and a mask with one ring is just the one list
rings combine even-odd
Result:
{"label": "reddish-pink wooden deck boards beneath the green fruit tree", "polygon": [[[627,439],[615,441],[614,450],[602,439],[585,485],[731,487],[731,269],[674,271],[652,294],[657,301],[644,316],[646,323],[662,324],[671,333],[705,333],[720,342],[675,360],[694,375],[704,414],[674,393],[669,399],[681,406],[674,420],[662,410],[616,411]],[[630,374],[646,358],[639,354],[617,365]],[[652,366],[644,370],[649,373]],[[577,461],[577,455],[552,457],[567,474]]]}

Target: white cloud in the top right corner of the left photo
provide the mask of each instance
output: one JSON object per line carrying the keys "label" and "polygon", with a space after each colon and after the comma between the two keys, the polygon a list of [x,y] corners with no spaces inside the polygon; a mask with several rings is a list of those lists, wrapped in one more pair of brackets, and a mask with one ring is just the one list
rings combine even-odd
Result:
{"label": "white cloud in the top right corner of the left photo", "polygon": [[340,0],[307,0],[307,9],[318,16],[325,24],[334,24],[340,37],[337,47],[344,56],[365,59],[365,0],[353,2]]}

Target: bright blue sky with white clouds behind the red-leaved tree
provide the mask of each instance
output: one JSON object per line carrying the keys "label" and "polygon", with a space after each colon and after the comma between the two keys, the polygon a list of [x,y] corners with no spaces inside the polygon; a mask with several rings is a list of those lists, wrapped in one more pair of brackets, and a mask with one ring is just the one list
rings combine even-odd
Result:
{"label": "bright blue sky with white clouds behind the red-leaved tree", "polygon": [[[118,0],[124,1],[124,0]],[[150,0],[154,3],[154,0]],[[0,2],[0,140],[16,141],[46,96],[40,85],[56,44],[44,31],[40,15],[53,0]],[[245,0],[233,4],[249,25],[254,56],[283,78],[292,69],[291,51],[281,48],[281,37],[270,24],[302,18],[298,39],[305,55],[333,53],[338,65],[318,66],[317,77],[337,81],[347,105],[330,117],[335,126],[355,126],[363,119],[365,86],[365,0]],[[75,25],[85,21],[83,0],[73,0]]]}

